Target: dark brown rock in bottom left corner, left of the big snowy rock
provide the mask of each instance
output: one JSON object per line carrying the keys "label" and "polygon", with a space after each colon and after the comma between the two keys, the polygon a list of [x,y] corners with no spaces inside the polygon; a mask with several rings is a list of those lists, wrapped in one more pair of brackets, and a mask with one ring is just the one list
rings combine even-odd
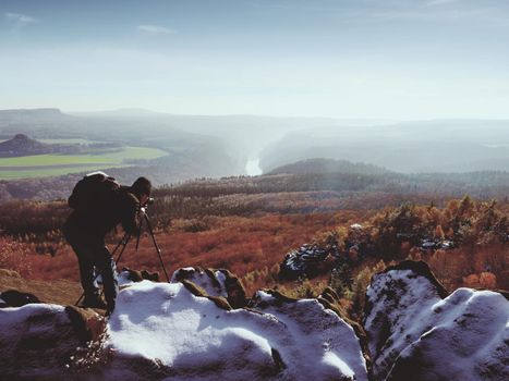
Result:
{"label": "dark brown rock in bottom left corner, left of the big snowy rock", "polygon": [[96,334],[101,330],[94,325],[99,321],[97,314],[85,314],[87,318],[80,323],[58,305],[0,309],[0,379],[75,379],[69,368],[71,357],[93,339],[94,330]]}

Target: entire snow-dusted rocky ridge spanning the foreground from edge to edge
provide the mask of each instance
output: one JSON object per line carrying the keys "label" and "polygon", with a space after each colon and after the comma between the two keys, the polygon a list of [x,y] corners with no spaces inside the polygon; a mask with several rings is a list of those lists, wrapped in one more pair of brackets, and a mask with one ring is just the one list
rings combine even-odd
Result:
{"label": "entire snow-dusted rocky ridge spanning the foreground from edge to edge", "polygon": [[246,298],[227,270],[180,269],[171,283],[131,278],[122,273],[118,307],[106,324],[93,310],[75,307],[0,308],[2,377],[509,377],[508,300],[489,291],[448,294],[423,262],[405,261],[373,278],[364,328],[344,317],[329,288],[316,299],[291,299],[269,290]]}

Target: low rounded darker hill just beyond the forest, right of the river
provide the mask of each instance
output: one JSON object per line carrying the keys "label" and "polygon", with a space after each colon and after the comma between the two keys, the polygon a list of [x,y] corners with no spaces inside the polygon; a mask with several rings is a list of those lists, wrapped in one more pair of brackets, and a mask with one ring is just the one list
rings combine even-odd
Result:
{"label": "low rounded darker hill just beyond the forest, right of the river", "polygon": [[322,173],[357,173],[357,174],[386,174],[385,168],[365,163],[353,163],[348,160],[307,159],[291,164],[278,167],[268,174],[322,174]]}

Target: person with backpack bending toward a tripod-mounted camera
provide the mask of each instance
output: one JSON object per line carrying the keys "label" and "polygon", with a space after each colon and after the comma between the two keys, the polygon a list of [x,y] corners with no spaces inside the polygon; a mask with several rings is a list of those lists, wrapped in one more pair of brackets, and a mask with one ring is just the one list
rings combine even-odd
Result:
{"label": "person with backpack bending toward a tripod-mounted camera", "polygon": [[[69,198],[74,209],[63,226],[68,243],[77,256],[84,290],[84,307],[114,309],[118,282],[114,260],[106,247],[105,237],[119,223],[129,234],[136,234],[140,209],[150,196],[152,184],[138,177],[132,186],[120,186],[102,172],[85,176]],[[95,283],[94,269],[101,274],[106,305]]]}

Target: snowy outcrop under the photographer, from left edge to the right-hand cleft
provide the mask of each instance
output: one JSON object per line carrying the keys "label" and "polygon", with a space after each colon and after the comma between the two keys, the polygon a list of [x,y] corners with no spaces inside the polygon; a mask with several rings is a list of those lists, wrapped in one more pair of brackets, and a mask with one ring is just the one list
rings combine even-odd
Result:
{"label": "snowy outcrop under the photographer, from left edge to the right-hand cleft", "polygon": [[[367,380],[352,327],[323,299],[260,291],[249,307],[226,270],[185,268],[174,283],[121,273],[108,323],[90,309],[0,309],[7,379]],[[240,307],[243,306],[243,307]]]}

